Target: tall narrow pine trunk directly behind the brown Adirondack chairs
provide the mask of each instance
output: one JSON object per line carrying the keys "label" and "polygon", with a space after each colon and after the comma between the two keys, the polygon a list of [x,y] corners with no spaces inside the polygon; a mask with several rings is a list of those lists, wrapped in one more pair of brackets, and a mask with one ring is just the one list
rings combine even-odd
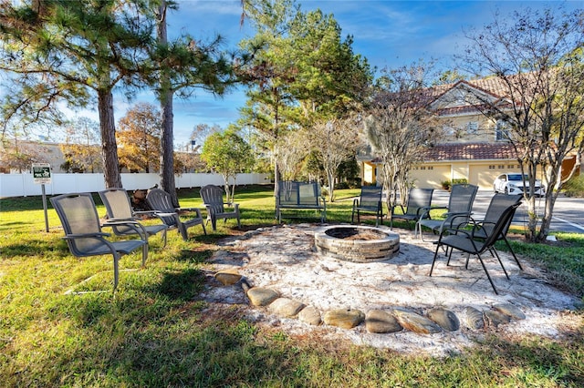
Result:
{"label": "tall narrow pine trunk directly behind the brown Adirondack chairs", "polygon": [[[157,26],[158,42],[162,45],[168,43],[166,30],[166,1],[162,0],[159,7],[159,20]],[[161,187],[169,193],[172,204],[179,207],[179,199],[176,195],[176,186],[174,183],[174,135],[173,135],[173,113],[172,113],[172,86],[170,76],[164,71],[162,66],[160,79],[160,101],[162,107],[162,135],[161,135]]]}

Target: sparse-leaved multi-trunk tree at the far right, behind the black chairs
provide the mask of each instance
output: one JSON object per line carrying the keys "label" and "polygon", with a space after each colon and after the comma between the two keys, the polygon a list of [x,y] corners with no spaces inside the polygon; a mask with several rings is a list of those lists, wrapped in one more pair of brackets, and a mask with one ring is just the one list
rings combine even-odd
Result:
{"label": "sparse-leaved multi-trunk tree at the far right, behind the black chairs", "polygon": [[[481,101],[482,110],[507,123],[507,138],[529,177],[525,197],[532,241],[547,237],[564,159],[570,154],[577,158],[569,177],[579,168],[584,149],[583,18],[582,9],[566,13],[561,7],[495,17],[482,30],[467,33],[471,45],[459,56],[469,70],[494,75],[502,85],[503,98]],[[546,177],[539,227],[534,189],[538,169]]]}

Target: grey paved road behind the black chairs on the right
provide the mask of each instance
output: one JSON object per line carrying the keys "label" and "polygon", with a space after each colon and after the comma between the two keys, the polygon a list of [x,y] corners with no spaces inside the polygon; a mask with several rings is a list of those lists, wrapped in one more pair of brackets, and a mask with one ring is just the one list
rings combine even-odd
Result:
{"label": "grey paved road behind the black chairs on the right", "polygon": [[[445,190],[434,190],[432,204],[446,206],[449,193]],[[490,190],[479,190],[474,199],[473,212],[477,218],[485,214],[486,208],[493,197]],[[544,200],[537,199],[537,209],[543,212]],[[522,204],[513,218],[513,225],[524,225],[527,228],[527,205]],[[554,207],[554,216],[550,230],[570,233],[584,233],[584,199],[559,196]]]}

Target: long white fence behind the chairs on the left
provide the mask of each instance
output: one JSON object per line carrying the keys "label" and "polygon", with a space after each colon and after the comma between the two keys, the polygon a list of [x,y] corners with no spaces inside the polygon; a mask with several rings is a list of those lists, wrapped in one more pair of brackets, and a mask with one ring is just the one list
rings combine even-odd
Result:
{"label": "long white fence behind the chairs on the left", "polygon": [[[160,183],[159,174],[121,174],[124,189],[149,189]],[[270,183],[268,174],[237,174],[235,184],[256,185]],[[218,174],[182,174],[175,176],[177,189],[199,188],[204,185],[223,185]],[[45,185],[47,195],[77,192],[97,192],[105,189],[103,174],[52,174],[51,184]],[[35,184],[32,174],[0,174],[0,198],[41,195],[41,185]]]}

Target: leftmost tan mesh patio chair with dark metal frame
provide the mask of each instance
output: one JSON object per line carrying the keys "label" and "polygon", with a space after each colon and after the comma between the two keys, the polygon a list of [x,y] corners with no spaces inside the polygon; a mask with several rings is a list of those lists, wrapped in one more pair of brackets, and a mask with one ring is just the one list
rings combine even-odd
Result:
{"label": "leftmost tan mesh patio chair with dark metal frame", "polygon": [[142,267],[148,258],[148,241],[144,232],[133,222],[120,221],[118,224],[135,228],[140,239],[110,241],[110,233],[101,231],[98,210],[89,193],[63,194],[50,199],[57,211],[65,231],[64,240],[71,254],[77,257],[100,255],[113,256],[113,291],[118,287],[120,278],[120,257],[134,250],[142,249]]}

